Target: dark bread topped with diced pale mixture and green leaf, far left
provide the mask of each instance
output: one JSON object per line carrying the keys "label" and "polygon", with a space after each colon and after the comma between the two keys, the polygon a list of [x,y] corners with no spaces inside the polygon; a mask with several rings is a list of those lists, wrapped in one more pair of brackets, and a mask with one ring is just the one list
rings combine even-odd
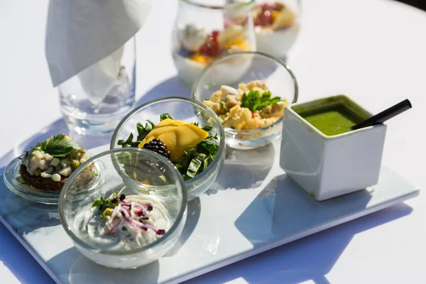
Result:
{"label": "dark bread topped with diced pale mixture and green leaf, far left", "polygon": [[[60,133],[26,151],[17,179],[35,190],[60,191],[71,173],[88,159],[77,142]],[[93,166],[86,169],[87,181],[96,175],[92,170]]]}

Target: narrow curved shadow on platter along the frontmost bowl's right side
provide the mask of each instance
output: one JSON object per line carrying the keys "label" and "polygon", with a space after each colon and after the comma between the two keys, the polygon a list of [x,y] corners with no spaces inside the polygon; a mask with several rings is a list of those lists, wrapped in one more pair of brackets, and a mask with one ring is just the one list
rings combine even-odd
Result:
{"label": "narrow curved shadow on platter along the frontmost bowl's right side", "polygon": [[174,256],[180,248],[186,243],[187,239],[191,236],[192,232],[195,229],[195,226],[197,226],[198,220],[200,219],[200,212],[201,212],[201,202],[200,198],[195,198],[195,200],[192,200],[188,202],[188,209],[187,209],[187,219],[185,222],[185,226],[183,227],[182,234],[180,234],[178,241],[176,241],[175,246],[173,246],[168,253],[165,254],[163,257],[170,257]]}

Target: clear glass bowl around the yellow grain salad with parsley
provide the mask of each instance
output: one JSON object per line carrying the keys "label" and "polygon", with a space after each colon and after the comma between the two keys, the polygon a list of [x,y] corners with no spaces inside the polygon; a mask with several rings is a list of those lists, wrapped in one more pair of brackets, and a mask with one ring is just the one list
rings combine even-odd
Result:
{"label": "clear glass bowl around the yellow grain salad with parsley", "polygon": [[[251,62],[248,70],[238,77],[226,76],[233,72],[231,67],[226,70],[229,62],[242,60]],[[219,70],[226,70],[220,78],[215,76]],[[204,69],[193,85],[192,99],[203,102],[204,99],[209,99],[222,85],[238,88],[239,83],[248,83],[253,80],[265,80],[266,86],[271,90],[272,97],[285,98],[288,104],[297,102],[297,81],[290,68],[283,61],[258,52],[235,53],[212,62]],[[280,137],[282,124],[283,116],[275,123],[261,129],[236,130],[225,127],[226,145],[239,149],[265,146]]]}

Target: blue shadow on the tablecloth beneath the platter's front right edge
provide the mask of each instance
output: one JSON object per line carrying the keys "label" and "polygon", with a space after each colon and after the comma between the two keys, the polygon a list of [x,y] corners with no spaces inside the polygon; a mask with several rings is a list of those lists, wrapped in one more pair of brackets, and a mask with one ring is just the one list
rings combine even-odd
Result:
{"label": "blue shadow on the tablecloth beneath the platter's front right edge", "polygon": [[245,283],[329,284],[325,275],[332,270],[354,235],[404,217],[411,211],[408,205],[397,204],[246,258],[220,271],[188,280],[185,284],[227,283],[236,278],[244,278]]}

